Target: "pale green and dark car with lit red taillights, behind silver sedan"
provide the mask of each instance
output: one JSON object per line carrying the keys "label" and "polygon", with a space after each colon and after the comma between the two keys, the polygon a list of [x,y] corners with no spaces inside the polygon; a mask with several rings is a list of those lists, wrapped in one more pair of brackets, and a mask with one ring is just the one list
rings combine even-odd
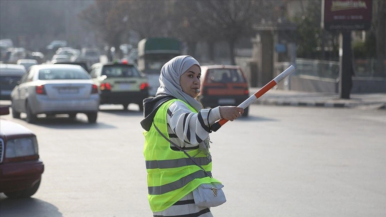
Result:
{"label": "pale green and dark car with lit red taillights, behind silver sedan", "polygon": [[149,97],[149,83],[134,64],[96,63],[90,67],[91,78],[100,90],[101,104],[121,104],[124,109],[130,103],[138,104]]}

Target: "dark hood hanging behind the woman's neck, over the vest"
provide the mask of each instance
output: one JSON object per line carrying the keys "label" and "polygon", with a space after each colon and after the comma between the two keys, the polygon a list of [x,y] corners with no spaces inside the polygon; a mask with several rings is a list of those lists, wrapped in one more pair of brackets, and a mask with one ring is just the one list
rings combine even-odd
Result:
{"label": "dark hood hanging behind the woman's neck, over the vest", "polygon": [[175,97],[171,95],[157,95],[156,97],[149,97],[144,99],[144,119],[141,120],[141,126],[144,130],[149,131],[151,124],[153,123],[154,116],[161,107],[161,105],[171,99],[175,99]]}

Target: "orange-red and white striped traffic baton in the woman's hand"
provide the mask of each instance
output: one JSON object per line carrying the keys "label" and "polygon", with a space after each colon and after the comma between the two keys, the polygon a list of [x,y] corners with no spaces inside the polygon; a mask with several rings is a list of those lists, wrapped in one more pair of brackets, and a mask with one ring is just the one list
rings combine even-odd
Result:
{"label": "orange-red and white striped traffic baton in the woman's hand", "polygon": [[[256,93],[254,93],[252,96],[247,98],[244,102],[242,102],[238,107],[241,107],[243,109],[247,108],[249,105],[254,103],[259,97],[261,97],[264,93],[266,93],[268,90],[271,90],[275,85],[277,85],[280,81],[282,81],[285,77],[287,77],[289,74],[293,73],[295,71],[295,67],[293,65],[289,66],[286,70],[284,70],[280,75],[276,76],[272,81],[269,81],[266,85],[264,85],[260,90],[258,90]],[[211,128],[212,131],[217,131],[224,125],[228,120],[221,119],[218,122],[214,123]]]}

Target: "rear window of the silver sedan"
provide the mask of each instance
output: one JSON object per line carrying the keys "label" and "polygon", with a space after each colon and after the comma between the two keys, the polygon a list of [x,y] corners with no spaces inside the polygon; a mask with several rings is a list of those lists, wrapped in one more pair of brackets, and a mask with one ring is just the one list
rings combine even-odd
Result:
{"label": "rear window of the silver sedan", "polygon": [[39,80],[90,79],[83,70],[76,69],[44,69],[39,70]]}

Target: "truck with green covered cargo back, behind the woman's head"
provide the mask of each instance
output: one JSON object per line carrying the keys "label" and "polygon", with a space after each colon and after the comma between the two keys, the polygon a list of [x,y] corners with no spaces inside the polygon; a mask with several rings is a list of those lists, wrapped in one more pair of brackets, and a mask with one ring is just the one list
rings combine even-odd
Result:
{"label": "truck with green covered cargo back, behind the woman's head", "polygon": [[162,66],[179,55],[181,55],[181,42],[178,39],[157,37],[138,42],[137,66],[149,80],[149,95],[156,95]]}

